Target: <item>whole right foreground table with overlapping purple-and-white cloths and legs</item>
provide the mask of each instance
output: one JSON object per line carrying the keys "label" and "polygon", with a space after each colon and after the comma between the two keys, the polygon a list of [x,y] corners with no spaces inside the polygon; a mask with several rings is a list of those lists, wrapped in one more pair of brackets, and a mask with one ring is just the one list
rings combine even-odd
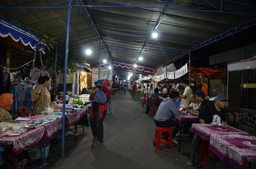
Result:
{"label": "whole right foreground table with overlapping purple-and-white cloths and legs", "polygon": [[[209,141],[211,151],[238,169],[246,169],[247,159],[256,158],[256,137],[234,127],[228,126],[224,130],[211,124],[192,124],[190,132]],[[195,168],[196,163],[199,162],[195,160]]]}

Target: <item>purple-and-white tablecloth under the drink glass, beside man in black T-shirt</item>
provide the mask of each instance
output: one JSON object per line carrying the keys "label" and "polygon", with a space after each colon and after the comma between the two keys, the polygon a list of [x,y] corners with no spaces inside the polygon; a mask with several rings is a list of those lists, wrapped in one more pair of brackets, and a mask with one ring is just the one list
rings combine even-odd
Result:
{"label": "purple-and-white tablecloth under the drink glass, beside man in black T-shirt", "polygon": [[192,124],[192,126],[190,127],[190,132],[197,134],[205,141],[210,141],[210,135],[214,133],[221,135],[245,133],[244,131],[238,130],[229,125],[226,130],[223,130],[221,127],[215,127],[211,124]]}

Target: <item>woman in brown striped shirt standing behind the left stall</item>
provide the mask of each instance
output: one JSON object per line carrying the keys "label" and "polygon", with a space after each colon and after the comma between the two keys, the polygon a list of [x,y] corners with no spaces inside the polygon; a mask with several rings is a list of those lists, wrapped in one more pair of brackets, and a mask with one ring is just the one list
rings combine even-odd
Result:
{"label": "woman in brown striped shirt standing behind the left stall", "polygon": [[38,85],[31,93],[31,101],[34,101],[32,115],[40,115],[45,107],[51,105],[51,95],[47,90],[50,86],[51,79],[49,76],[38,78]]}

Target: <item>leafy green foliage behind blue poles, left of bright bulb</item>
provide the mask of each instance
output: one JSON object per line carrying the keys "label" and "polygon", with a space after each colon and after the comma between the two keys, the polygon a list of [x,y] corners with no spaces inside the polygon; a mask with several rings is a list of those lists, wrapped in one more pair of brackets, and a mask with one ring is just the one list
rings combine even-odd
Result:
{"label": "leafy green foliage behind blue poles, left of bright bulb", "polygon": [[[57,63],[56,63],[56,70],[60,70],[60,72],[64,72],[64,65],[65,65],[65,50],[66,46],[58,47],[57,51]],[[46,67],[51,67],[54,69],[55,66],[55,56],[56,56],[56,49],[51,50],[49,52]],[[77,44],[70,44],[68,46],[68,74],[76,72],[79,67],[76,65],[78,63],[85,63],[86,58],[82,52],[82,49],[78,47]]]}

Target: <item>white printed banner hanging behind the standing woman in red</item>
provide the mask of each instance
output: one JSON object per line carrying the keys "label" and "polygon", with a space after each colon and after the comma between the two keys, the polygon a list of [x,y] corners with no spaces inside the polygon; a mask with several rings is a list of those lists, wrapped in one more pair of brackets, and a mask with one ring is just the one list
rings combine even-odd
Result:
{"label": "white printed banner hanging behind the standing woman in red", "polygon": [[[112,80],[112,72],[113,70],[108,70],[108,67],[100,68],[100,79]],[[94,86],[94,82],[98,80],[98,77],[99,68],[92,68],[92,86]]]}

